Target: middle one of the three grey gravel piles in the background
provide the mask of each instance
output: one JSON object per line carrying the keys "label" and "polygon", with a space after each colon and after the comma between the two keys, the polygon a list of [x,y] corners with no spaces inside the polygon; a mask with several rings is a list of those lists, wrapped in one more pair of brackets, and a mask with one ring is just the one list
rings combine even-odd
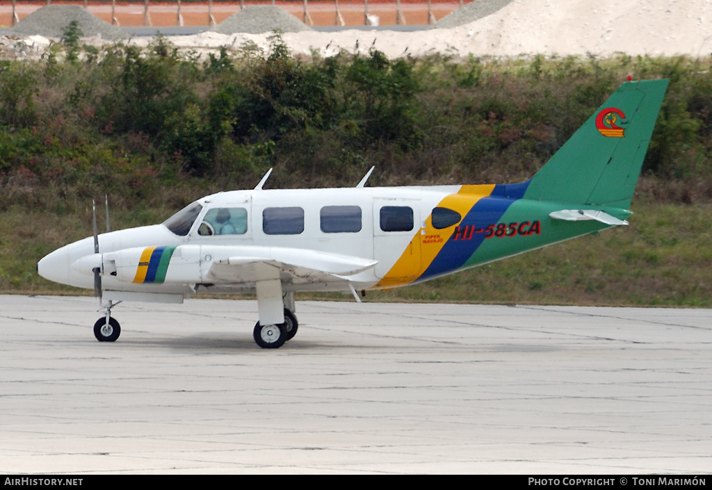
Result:
{"label": "middle one of the three grey gravel piles in the background", "polygon": [[288,14],[284,9],[272,5],[248,6],[237,14],[229,16],[215,26],[221,34],[261,34],[272,31],[301,32],[312,29]]}

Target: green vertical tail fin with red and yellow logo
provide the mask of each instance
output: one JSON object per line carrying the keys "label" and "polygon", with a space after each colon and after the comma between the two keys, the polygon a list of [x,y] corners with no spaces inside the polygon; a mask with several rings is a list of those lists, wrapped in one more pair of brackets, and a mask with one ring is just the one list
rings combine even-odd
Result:
{"label": "green vertical tail fin with red and yellow logo", "polygon": [[535,174],[524,199],[629,208],[667,85],[623,83]]}

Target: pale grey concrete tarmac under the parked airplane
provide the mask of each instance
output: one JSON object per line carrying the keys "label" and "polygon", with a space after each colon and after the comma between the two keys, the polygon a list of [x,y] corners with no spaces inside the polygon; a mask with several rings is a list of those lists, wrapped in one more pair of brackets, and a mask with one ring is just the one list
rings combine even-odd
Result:
{"label": "pale grey concrete tarmac under the parked airplane", "polygon": [[0,472],[708,474],[712,311],[0,296]]}

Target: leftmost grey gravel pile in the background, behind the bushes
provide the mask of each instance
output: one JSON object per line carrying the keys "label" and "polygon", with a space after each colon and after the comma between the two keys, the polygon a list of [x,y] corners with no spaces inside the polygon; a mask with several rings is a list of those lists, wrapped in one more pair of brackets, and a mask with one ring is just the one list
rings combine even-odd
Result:
{"label": "leftmost grey gravel pile in the background, behind the bushes", "polygon": [[125,39],[129,36],[116,26],[93,16],[78,5],[47,5],[19,21],[8,29],[15,36],[44,36],[61,38],[71,21],[77,21],[85,37],[110,40]]}

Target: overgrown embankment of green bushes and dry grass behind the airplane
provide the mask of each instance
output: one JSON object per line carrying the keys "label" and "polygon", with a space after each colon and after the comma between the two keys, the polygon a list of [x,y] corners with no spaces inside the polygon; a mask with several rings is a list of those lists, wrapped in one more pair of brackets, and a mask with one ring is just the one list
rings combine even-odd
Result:
{"label": "overgrown embankment of green bushes and dry grass behind the airplane", "polygon": [[709,58],[298,59],[273,36],[203,62],[164,39],[79,38],[0,61],[0,292],[75,292],[35,264],[90,234],[105,193],[120,229],[269,167],[271,188],[353,185],[372,165],[373,186],[521,182],[632,75],[671,81],[631,226],[367,298],[712,306]]}

